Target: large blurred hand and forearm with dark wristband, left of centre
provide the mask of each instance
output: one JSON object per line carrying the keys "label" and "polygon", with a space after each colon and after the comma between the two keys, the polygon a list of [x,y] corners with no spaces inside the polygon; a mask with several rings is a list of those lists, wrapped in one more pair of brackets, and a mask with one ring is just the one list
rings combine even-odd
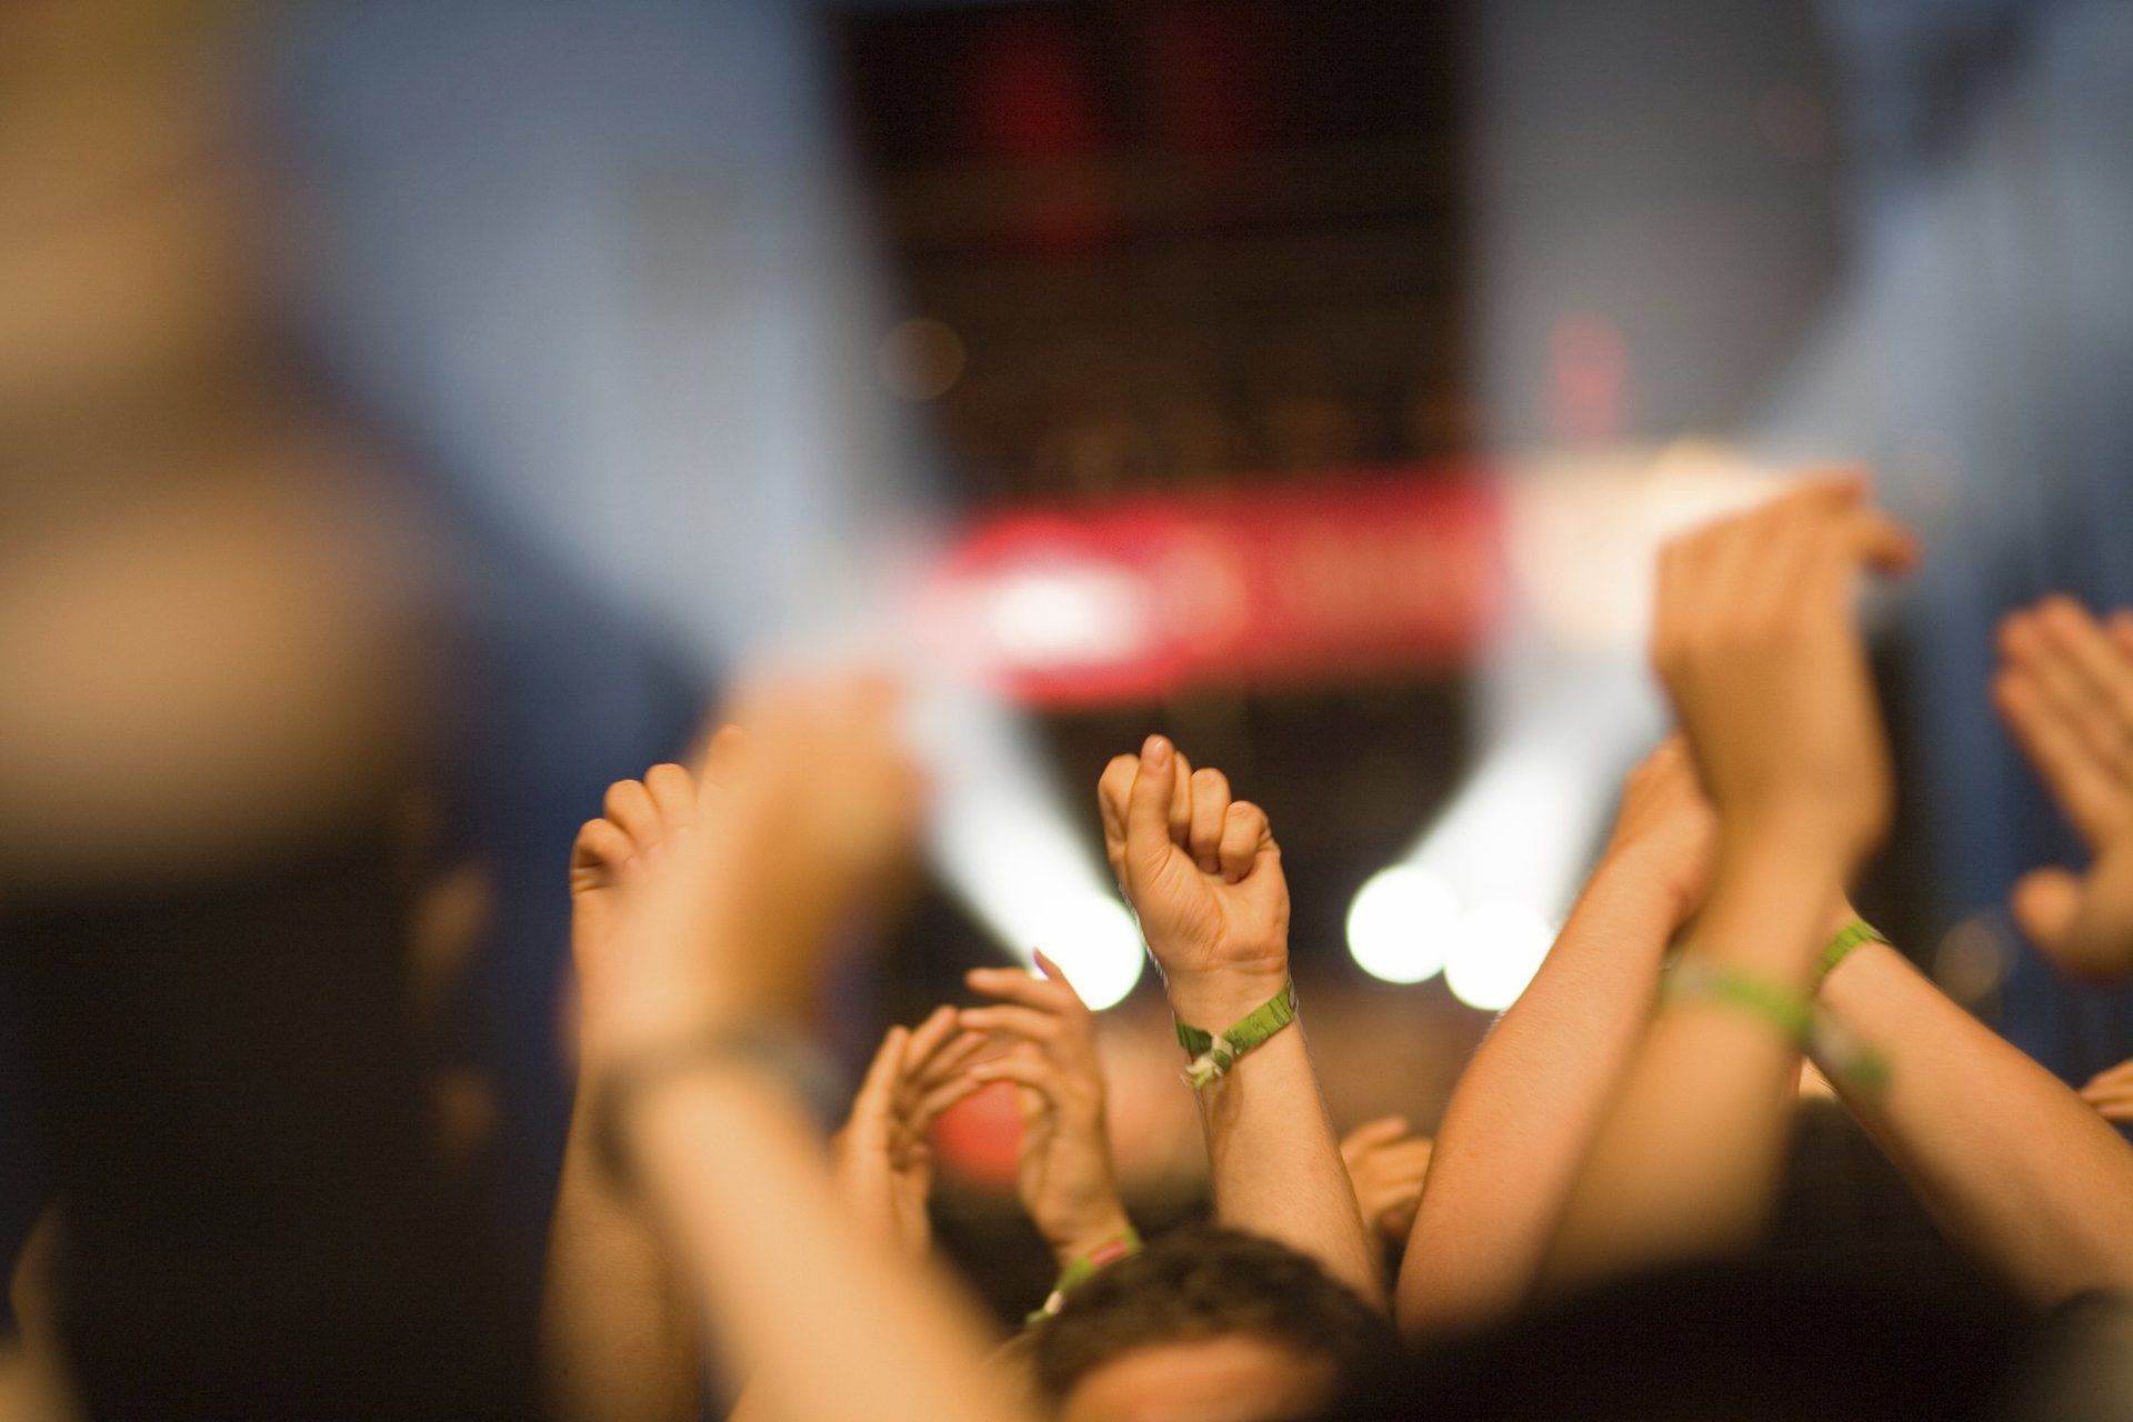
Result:
{"label": "large blurred hand and forearm with dark wristband, left of centre", "polygon": [[[646,895],[587,964],[587,1040],[604,1070],[729,1025],[800,1019],[834,930],[911,853],[917,785],[885,686],[770,686],[742,697],[734,721],[747,736],[727,738],[706,812],[661,838],[668,853],[653,855]],[[877,1098],[907,1074],[911,1040],[889,1060],[894,1072],[877,1060]],[[627,1098],[616,1126],[627,1198],[657,1222],[717,1356],[751,1379],[757,1416],[1022,1416],[985,1371],[975,1311],[904,1243],[855,1217],[825,1143],[764,1068],[732,1053],[691,1057]],[[550,1283],[550,1313],[567,1292],[567,1279]],[[587,1416],[616,1416],[576,1392],[593,1399]]]}

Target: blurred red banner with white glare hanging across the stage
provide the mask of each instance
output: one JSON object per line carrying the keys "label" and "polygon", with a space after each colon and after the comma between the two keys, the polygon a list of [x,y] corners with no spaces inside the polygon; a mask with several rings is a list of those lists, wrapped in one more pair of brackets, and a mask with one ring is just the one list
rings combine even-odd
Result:
{"label": "blurred red banner with white glare hanging across the stage", "polygon": [[919,635],[1037,706],[1457,667],[1499,605],[1497,522],[1485,480],[1429,469],[1017,510],[949,550]]}

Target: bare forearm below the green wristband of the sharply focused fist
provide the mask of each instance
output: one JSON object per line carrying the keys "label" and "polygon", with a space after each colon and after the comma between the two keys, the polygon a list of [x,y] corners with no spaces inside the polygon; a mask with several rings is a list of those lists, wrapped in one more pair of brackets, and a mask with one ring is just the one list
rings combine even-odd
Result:
{"label": "bare forearm below the green wristband of the sharply focused fist", "polygon": [[[1252,1006],[1256,1002],[1218,1008],[1229,1013],[1220,1025]],[[1303,1023],[1239,1057],[1226,1077],[1199,1094],[1199,1106],[1216,1219],[1312,1256],[1335,1279],[1382,1305],[1378,1251],[1318,1096]]]}

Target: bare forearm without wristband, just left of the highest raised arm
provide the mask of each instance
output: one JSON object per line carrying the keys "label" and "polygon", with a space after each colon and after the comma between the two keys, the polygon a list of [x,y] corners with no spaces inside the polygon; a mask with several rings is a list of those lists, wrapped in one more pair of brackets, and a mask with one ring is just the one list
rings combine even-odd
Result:
{"label": "bare forearm without wristband, just left of the highest raised arm", "polygon": [[1602,863],[1534,983],[1474,1053],[1438,1126],[1399,1273],[1408,1332],[1482,1324],[1531,1290],[1651,1021],[1674,915],[1664,878]]}

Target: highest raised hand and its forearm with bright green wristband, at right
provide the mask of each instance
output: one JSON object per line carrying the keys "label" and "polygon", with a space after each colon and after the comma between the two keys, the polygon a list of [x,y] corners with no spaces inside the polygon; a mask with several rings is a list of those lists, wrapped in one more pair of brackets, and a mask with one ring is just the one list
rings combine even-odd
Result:
{"label": "highest raised hand and its forearm with bright green wristband, at right", "polygon": [[[1719,817],[1685,962],[1807,993],[1828,906],[1879,844],[1892,799],[1856,584],[1862,567],[1913,556],[1856,478],[1802,482],[1664,550],[1653,661]],[[1576,1175],[1544,1283],[1749,1243],[1777,1190],[1796,1077],[1796,1045],[1751,1011],[1662,1011]]]}

